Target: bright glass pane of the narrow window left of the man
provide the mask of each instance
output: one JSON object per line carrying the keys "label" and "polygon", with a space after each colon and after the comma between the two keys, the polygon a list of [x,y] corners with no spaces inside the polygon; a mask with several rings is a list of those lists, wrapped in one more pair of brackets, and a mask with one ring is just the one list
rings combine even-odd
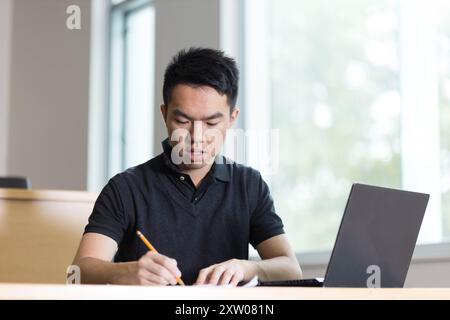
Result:
{"label": "bright glass pane of the narrow window left of the man", "polygon": [[124,168],[147,161],[153,149],[154,9],[126,18]]}

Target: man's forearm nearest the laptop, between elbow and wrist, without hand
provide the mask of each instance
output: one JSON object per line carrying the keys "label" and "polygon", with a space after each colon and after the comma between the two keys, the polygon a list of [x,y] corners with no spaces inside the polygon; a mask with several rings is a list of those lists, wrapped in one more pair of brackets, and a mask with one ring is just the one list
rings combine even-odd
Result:
{"label": "man's forearm nearest the laptop, between elbow and wrist, without hand", "polygon": [[245,270],[245,281],[255,275],[263,281],[301,279],[302,270],[294,259],[287,256],[261,261],[242,260]]}

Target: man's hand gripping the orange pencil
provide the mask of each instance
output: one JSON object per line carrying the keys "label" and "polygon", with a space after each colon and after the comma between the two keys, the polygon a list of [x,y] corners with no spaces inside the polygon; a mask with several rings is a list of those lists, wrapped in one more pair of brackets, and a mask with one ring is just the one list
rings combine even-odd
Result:
{"label": "man's hand gripping the orange pencil", "polygon": [[130,265],[128,274],[121,274],[115,283],[149,286],[176,285],[181,272],[175,259],[159,253],[147,252]]}

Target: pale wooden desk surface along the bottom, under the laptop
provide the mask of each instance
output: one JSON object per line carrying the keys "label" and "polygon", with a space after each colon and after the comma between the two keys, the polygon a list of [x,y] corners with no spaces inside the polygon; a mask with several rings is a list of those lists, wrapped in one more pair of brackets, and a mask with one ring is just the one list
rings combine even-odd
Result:
{"label": "pale wooden desk surface along the bottom, under the laptop", "polygon": [[0,284],[4,299],[150,299],[150,300],[339,300],[444,299],[450,288],[220,288],[117,285]]}

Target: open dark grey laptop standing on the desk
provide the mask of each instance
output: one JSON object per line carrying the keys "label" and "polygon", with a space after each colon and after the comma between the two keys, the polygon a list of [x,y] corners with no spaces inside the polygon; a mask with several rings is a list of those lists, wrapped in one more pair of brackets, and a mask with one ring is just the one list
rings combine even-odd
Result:
{"label": "open dark grey laptop standing on the desk", "polygon": [[258,286],[402,288],[430,195],[352,185],[324,279]]}

